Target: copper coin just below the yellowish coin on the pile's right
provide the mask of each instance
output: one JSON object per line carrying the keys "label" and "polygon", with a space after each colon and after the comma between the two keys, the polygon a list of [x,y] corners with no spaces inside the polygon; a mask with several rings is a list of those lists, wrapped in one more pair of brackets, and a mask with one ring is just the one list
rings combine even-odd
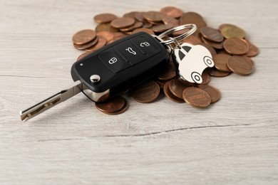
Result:
{"label": "copper coin just below the yellowish coin on the pile's right", "polygon": [[238,37],[227,38],[224,41],[223,46],[225,51],[232,55],[243,55],[249,50],[247,41]]}

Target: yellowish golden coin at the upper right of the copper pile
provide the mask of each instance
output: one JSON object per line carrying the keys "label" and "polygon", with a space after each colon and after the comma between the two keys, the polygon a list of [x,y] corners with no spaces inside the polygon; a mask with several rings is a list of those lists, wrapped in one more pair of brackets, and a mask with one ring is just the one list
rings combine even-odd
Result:
{"label": "yellowish golden coin at the upper right of the copper pile", "polygon": [[225,38],[244,38],[246,36],[246,33],[242,28],[232,24],[222,24],[220,25],[219,29],[222,33],[222,36],[224,36]]}

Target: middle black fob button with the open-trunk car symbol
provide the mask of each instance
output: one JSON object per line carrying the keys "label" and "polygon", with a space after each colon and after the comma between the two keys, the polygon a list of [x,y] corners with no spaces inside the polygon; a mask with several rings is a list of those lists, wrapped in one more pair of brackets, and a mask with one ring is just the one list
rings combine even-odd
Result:
{"label": "middle black fob button with the open-trunk car symbol", "polygon": [[118,45],[114,46],[114,48],[115,51],[127,58],[131,65],[140,63],[148,58],[148,56],[145,55],[143,51],[140,51],[140,49],[134,46],[134,44],[131,43],[129,40],[119,43]]}

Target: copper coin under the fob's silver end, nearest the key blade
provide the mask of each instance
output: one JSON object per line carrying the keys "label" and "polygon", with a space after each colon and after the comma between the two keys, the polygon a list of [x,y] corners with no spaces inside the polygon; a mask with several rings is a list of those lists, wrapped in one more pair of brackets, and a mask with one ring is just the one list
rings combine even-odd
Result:
{"label": "copper coin under the fob's silver end, nearest the key blade", "polygon": [[113,97],[105,102],[96,102],[96,108],[101,112],[112,113],[121,110],[125,106],[125,98],[121,96]]}

